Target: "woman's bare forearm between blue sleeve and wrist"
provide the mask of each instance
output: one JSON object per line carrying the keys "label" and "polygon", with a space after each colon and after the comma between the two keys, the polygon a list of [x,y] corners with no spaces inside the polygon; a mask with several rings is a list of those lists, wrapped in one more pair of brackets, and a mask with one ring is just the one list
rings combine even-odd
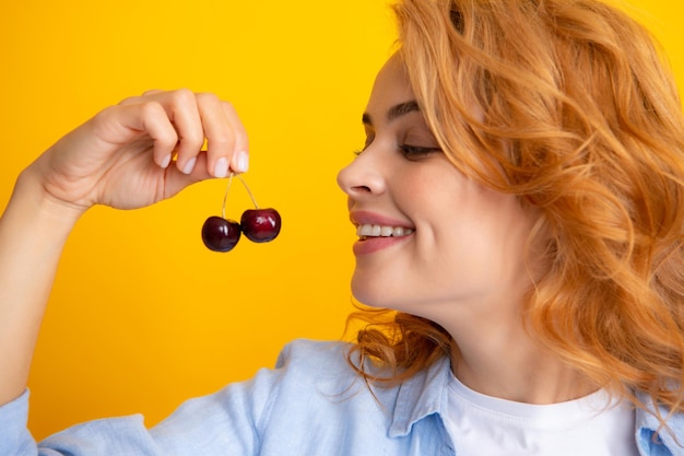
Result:
{"label": "woman's bare forearm between blue sleeve and wrist", "polygon": [[0,404],[26,387],[57,265],[79,214],[46,198],[28,169],[0,219]]}

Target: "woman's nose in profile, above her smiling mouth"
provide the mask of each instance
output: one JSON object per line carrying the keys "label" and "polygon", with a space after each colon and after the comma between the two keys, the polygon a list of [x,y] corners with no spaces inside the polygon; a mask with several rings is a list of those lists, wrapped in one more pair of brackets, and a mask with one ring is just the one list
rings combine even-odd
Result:
{"label": "woman's nose in profile, above her smiling mouth", "polygon": [[381,195],[385,192],[387,182],[378,157],[367,149],[340,169],[338,185],[350,198],[358,199]]}

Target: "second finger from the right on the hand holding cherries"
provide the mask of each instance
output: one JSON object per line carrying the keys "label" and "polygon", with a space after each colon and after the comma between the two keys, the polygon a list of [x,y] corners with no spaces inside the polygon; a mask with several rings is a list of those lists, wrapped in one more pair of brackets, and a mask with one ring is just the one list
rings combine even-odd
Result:
{"label": "second finger from the right on the hand holding cherries", "polygon": [[236,131],[214,94],[197,95],[202,127],[207,137],[207,166],[214,177],[226,177],[235,153]]}

